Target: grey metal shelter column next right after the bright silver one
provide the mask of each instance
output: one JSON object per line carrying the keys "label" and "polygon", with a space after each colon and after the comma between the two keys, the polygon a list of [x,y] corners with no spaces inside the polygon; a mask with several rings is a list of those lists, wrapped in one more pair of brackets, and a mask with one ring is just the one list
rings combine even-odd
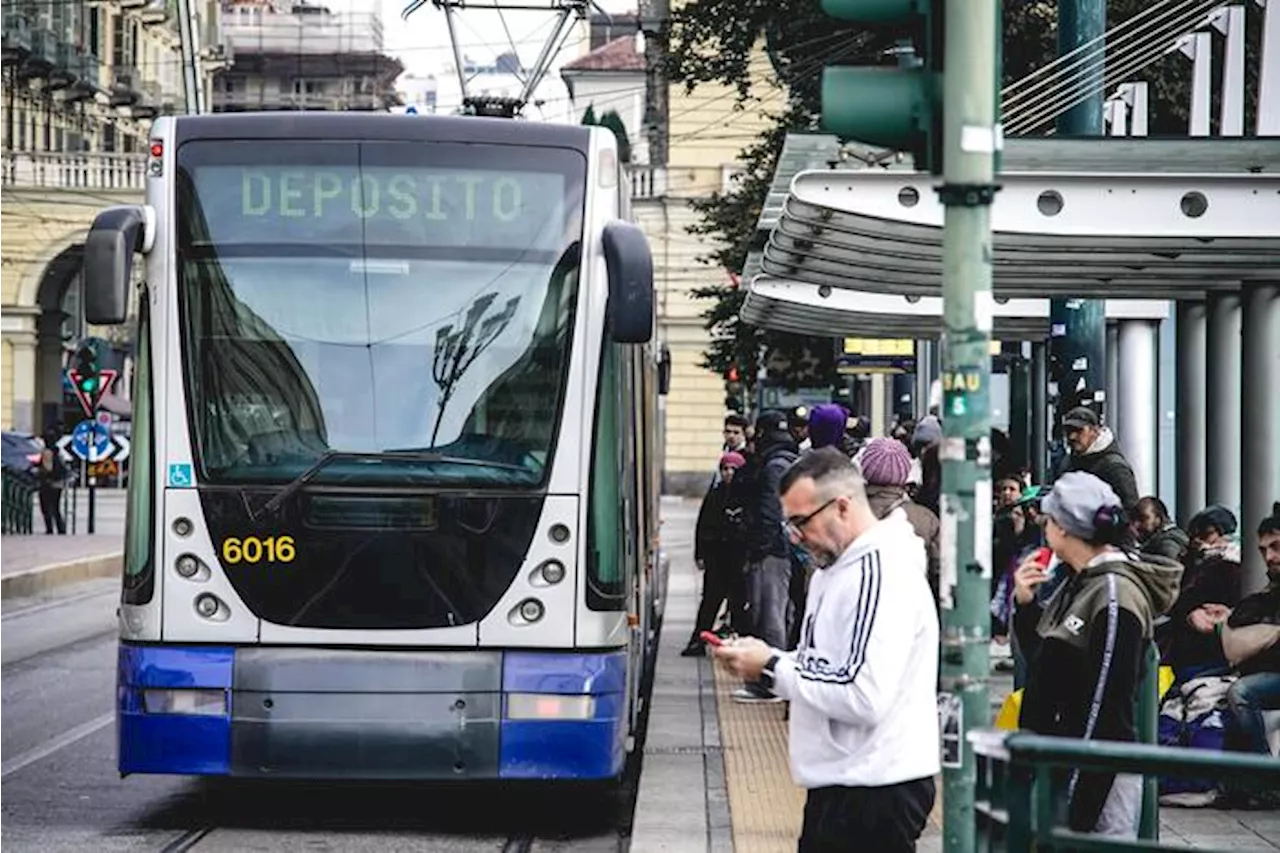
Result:
{"label": "grey metal shelter column next right after the bright silver one", "polygon": [[1207,503],[1204,498],[1204,345],[1208,309],[1204,302],[1178,302],[1178,523],[1185,525]]}

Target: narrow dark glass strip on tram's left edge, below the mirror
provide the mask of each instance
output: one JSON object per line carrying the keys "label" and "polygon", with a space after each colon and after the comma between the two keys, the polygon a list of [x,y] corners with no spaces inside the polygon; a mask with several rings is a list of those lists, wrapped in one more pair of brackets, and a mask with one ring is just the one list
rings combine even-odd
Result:
{"label": "narrow dark glass strip on tram's left edge, below the mirror", "polygon": [[124,528],[124,603],[146,605],[155,592],[155,418],[151,387],[148,297],[138,300],[138,357],[133,377],[133,446],[129,451]]}

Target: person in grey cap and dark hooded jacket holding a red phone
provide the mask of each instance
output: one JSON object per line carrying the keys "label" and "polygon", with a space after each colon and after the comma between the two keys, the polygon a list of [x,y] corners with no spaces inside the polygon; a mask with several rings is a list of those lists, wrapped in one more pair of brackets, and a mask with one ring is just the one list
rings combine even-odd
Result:
{"label": "person in grey cap and dark hooded jacket holding a red phone", "polygon": [[[1137,740],[1134,707],[1155,620],[1178,597],[1183,567],[1129,542],[1120,497],[1092,474],[1059,478],[1041,505],[1044,538],[1068,579],[1041,606],[1047,570],[1014,574],[1014,630],[1028,660],[1020,727],[1085,740]],[[1066,820],[1078,833],[1135,838],[1142,776],[1074,771]]]}

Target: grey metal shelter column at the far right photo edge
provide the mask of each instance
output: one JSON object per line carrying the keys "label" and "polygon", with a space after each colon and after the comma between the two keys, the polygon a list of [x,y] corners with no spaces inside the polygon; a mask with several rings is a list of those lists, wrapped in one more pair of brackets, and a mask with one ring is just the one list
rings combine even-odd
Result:
{"label": "grey metal shelter column at the far right photo edge", "polygon": [[1280,284],[1261,284],[1244,292],[1242,388],[1249,405],[1240,424],[1244,456],[1240,537],[1244,589],[1267,583],[1258,553],[1258,521],[1280,501]]}

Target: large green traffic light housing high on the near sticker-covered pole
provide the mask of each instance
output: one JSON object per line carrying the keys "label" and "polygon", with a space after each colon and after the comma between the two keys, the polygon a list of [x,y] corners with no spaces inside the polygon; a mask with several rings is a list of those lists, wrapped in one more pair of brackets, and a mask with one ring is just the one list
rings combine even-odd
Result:
{"label": "large green traffic light housing high on the near sticker-covered pole", "polygon": [[822,0],[822,10],[832,18],[900,33],[918,60],[896,67],[826,67],[824,131],[906,151],[918,170],[942,173],[943,5],[943,0]]}

